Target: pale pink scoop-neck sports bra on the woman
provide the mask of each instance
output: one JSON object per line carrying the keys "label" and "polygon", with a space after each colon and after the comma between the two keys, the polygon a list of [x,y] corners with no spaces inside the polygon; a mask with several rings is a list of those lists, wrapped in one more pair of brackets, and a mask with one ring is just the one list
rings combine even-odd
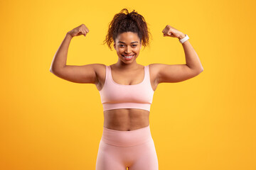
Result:
{"label": "pale pink scoop-neck sports bra on the woman", "polygon": [[144,79],[139,84],[117,84],[112,79],[111,68],[106,66],[105,83],[100,92],[103,111],[117,108],[139,108],[150,111],[154,90],[149,77],[149,65],[144,66]]}

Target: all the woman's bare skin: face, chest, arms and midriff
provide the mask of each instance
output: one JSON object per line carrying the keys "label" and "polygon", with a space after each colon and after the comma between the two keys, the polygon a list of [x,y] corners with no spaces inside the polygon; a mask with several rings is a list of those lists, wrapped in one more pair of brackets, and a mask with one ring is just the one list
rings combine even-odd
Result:
{"label": "all the woman's bare skin: face, chest, arms and midriff", "polygon": [[[82,66],[67,65],[68,47],[75,36],[89,33],[89,29],[80,25],[70,30],[53,57],[50,72],[55,76],[82,84],[95,84],[98,90],[105,82],[105,64],[86,64]],[[167,25],[162,31],[164,37],[182,39],[185,34]],[[139,84],[144,79],[144,66],[137,64],[136,59],[142,47],[137,33],[127,32],[118,35],[114,40],[114,49],[117,51],[118,61],[110,65],[112,79],[117,84]],[[182,44],[185,52],[186,64],[149,64],[151,88],[155,91],[160,83],[176,83],[196,77],[203,72],[202,64],[191,43],[186,40]],[[123,55],[133,56],[127,60]],[[104,127],[112,130],[137,130],[149,125],[149,111],[137,108],[121,108],[104,111]]]}

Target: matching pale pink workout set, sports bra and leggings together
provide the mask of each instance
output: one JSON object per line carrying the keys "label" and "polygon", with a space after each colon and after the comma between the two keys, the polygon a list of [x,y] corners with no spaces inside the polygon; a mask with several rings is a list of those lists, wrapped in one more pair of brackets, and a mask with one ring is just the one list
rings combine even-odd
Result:
{"label": "matching pale pink workout set, sports bra and leggings together", "polygon": [[[149,77],[149,65],[144,67],[144,79],[139,84],[117,84],[111,68],[106,66],[106,78],[99,91],[103,111],[117,108],[139,108],[150,111],[154,96]],[[149,125],[131,131],[103,127],[97,153],[96,170],[158,170],[159,164]]]}

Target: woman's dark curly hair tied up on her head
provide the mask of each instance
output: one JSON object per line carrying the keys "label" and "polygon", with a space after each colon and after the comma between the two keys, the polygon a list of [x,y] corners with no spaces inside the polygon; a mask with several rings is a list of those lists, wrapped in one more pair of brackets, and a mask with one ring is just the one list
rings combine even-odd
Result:
{"label": "woman's dark curly hair tied up on her head", "polygon": [[144,17],[134,10],[129,13],[127,8],[123,8],[119,13],[114,15],[103,44],[107,43],[110,50],[112,50],[112,42],[115,41],[120,33],[125,32],[137,33],[142,45],[144,47],[149,46],[149,35],[151,35],[151,33],[149,32]]}

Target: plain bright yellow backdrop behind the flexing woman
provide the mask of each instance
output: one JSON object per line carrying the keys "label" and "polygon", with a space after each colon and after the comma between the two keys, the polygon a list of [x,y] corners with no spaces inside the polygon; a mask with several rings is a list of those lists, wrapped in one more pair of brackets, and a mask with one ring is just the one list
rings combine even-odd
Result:
{"label": "plain bright yellow backdrop behind the flexing woman", "polygon": [[[102,45],[122,8],[149,23],[151,47],[139,64],[185,64],[177,38],[189,36],[204,71],[159,84],[150,113],[159,170],[256,169],[255,1],[1,1],[0,169],[95,169],[103,108],[94,84],[50,73],[65,34],[73,38],[69,65],[114,64]],[[138,169],[139,170],[139,169]]]}

